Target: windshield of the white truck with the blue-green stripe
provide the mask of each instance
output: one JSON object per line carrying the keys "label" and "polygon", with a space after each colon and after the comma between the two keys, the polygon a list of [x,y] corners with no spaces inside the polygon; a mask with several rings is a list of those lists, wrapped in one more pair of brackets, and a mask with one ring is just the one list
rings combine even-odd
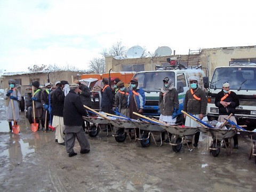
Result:
{"label": "windshield of the white truck with the blue-green stripe", "polygon": [[175,73],[173,71],[148,71],[137,73],[134,77],[138,78],[139,86],[146,92],[161,90],[163,79],[169,77],[175,85]]}

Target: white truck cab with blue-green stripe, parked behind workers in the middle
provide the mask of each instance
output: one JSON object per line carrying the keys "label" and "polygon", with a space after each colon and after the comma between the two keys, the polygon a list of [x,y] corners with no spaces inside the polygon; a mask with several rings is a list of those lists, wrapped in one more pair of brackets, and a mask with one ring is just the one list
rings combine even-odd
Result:
{"label": "white truck cab with blue-green stripe, parked behind workers in the middle", "polygon": [[199,86],[203,88],[203,77],[205,73],[200,68],[167,68],[167,70],[156,71],[141,71],[134,75],[138,78],[139,86],[145,91],[146,104],[143,109],[143,114],[146,116],[153,116],[158,118],[160,116],[158,101],[159,93],[163,87],[163,79],[169,77],[174,82],[174,87],[177,89],[179,94],[179,116],[178,121],[183,121],[183,115],[181,115],[181,110],[183,109],[183,102],[185,100],[185,94],[189,90],[190,76],[197,76],[200,81]]}

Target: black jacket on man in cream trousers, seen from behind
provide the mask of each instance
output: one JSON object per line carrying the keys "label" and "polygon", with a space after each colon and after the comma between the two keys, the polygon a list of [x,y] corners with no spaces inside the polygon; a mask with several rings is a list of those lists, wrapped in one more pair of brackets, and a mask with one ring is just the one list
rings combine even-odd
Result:
{"label": "black jacket on man in cream trousers, seen from behind", "polygon": [[52,95],[52,115],[63,117],[65,94],[61,87],[57,87]]}

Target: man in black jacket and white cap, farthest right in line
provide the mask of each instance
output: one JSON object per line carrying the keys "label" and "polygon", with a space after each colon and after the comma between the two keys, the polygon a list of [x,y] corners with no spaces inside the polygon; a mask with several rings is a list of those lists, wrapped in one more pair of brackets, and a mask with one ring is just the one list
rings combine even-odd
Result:
{"label": "man in black jacket and white cap, farthest right in line", "polygon": [[[229,83],[225,82],[222,84],[222,90],[217,94],[215,99],[215,106],[219,108],[219,122],[224,122],[231,113],[233,116],[230,117],[230,121],[237,124],[235,119],[235,110],[239,106],[239,98],[237,94],[229,90]],[[238,149],[238,138],[237,134],[234,135],[234,149]],[[228,142],[227,139],[225,139]]]}

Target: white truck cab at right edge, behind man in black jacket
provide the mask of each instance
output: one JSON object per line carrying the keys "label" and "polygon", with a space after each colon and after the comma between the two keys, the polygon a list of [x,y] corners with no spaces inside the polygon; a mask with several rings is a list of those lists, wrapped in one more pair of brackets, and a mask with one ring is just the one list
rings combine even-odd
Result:
{"label": "white truck cab at right edge, behind man in black jacket", "polygon": [[256,123],[256,63],[230,63],[227,67],[214,69],[207,93],[207,118],[218,119],[219,111],[215,106],[216,95],[222,90],[222,84],[229,82],[230,91],[238,95],[240,105],[236,108],[235,118],[239,124]]}

